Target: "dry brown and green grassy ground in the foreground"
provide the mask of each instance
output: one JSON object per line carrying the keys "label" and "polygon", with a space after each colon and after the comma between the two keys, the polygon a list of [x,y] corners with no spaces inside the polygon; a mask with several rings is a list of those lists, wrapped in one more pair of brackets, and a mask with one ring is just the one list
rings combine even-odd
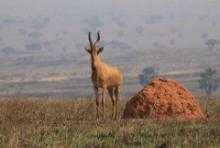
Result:
{"label": "dry brown and green grassy ground in the foreground", "polygon": [[111,121],[107,102],[97,122],[94,99],[1,98],[0,147],[220,147],[220,100],[200,106],[207,121]]}

